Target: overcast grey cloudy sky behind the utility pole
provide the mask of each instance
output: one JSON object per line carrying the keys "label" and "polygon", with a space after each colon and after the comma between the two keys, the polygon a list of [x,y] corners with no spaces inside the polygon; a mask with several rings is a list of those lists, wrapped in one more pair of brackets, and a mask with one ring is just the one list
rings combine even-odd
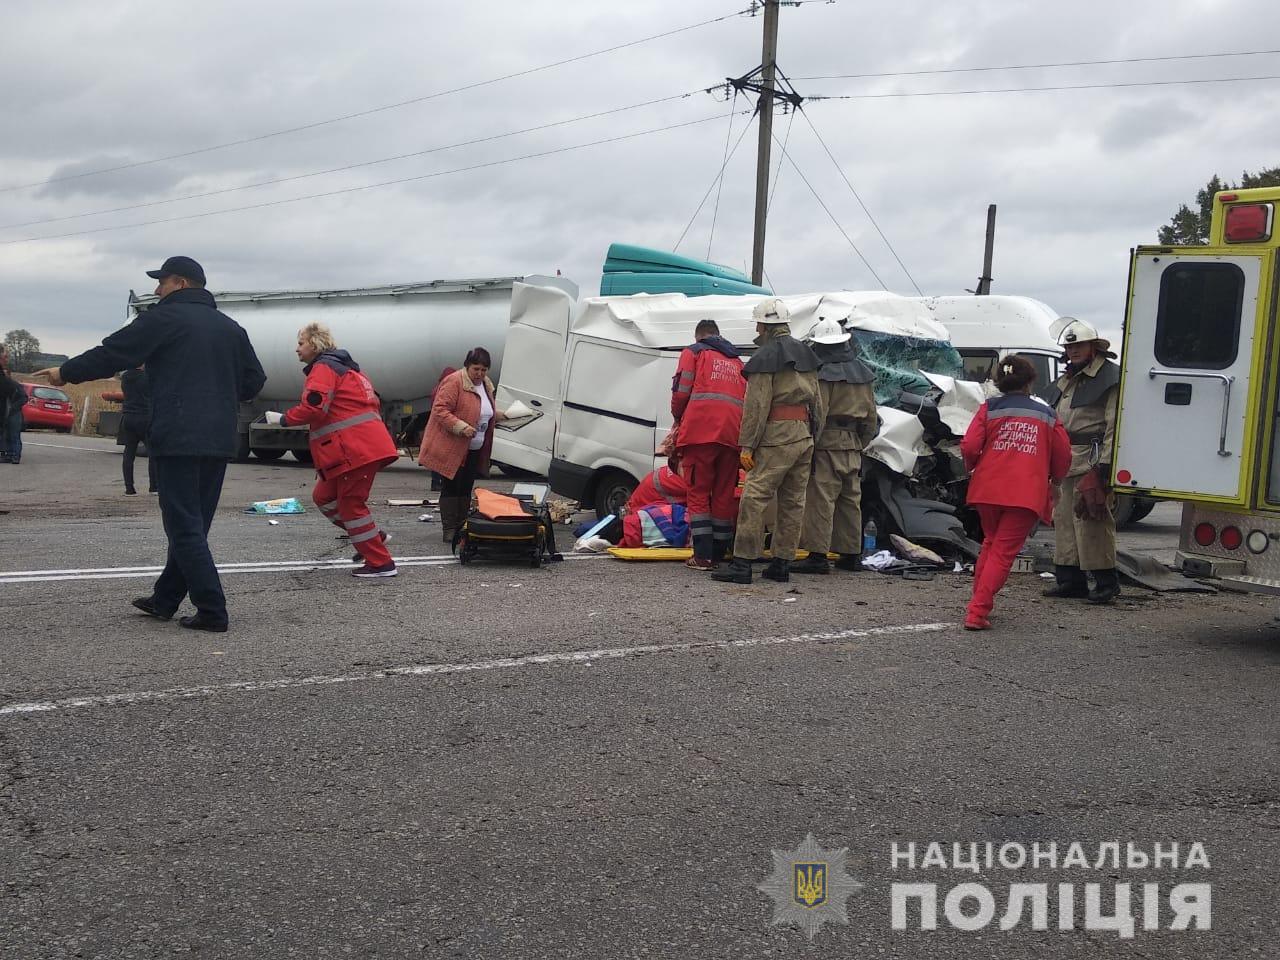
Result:
{"label": "overcast grey cloudy sky behind the utility pole", "polygon": [[[178,252],[214,289],[559,269],[595,293],[611,242],[682,233],[680,252],[749,269],[754,129],[685,233],[749,119],[730,128],[733,105],[701,92],[759,63],[762,18],[732,15],[749,4],[5,0],[0,334],[92,346]],[[780,67],[803,95],[852,99],[776,131],[870,269],[785,164],[774,289],[961,293],[993,202],[993,292],[1117,329],[1129,247],[1211,174],[1280,165],[1280,79],[1167,82],[1280,77],[1280,54],[1239,55],[1280,47],[1277,27],[1262,0],[785,8]],[[1204,54],[1236,55],[1134,63]],[[1129,63],[1048,65],[1101,60]],[[972,69],[1011,67],[1032,69]],[[325,123],[347,114],[365,115]]]}

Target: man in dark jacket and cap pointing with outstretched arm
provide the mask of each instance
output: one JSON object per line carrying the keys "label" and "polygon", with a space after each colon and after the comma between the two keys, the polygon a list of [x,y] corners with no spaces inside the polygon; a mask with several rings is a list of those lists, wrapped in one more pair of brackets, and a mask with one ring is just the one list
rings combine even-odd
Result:
{"label": "man in dark jacket and cap pointing with outstretched arm", "polygon": [[133,605],[169,620],[189,594],[196,616],[183,617],[182,626],[225,632],[227,598],[209,552],[209,527],[227,461],[236,456],[239,403],[257,396],[266,374],[244,330],[218,312],[200,264],[169,257],[147,276],[160,282],[159,303],[102,346],[37,375],[59,387],[146,364],[152,403],[147,442],[169,556],[151,595]]}

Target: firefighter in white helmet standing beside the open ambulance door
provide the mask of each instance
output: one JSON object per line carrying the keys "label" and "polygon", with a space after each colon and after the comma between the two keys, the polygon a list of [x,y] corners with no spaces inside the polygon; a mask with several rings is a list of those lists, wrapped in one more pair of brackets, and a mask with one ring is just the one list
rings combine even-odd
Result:
{"label": "firefighter in white helmet standing beside the open ambulance door", "polygon": [[[1057,319],[1050,335],[1066,349],[1066,372],[1048,389],[1071,439],[1071,467],[1053,507],[1053,575],[1046,596],[1110,603],[1120,594],[1116,573],[1115,494],[1111,447],[1115,440],[1120,367],[1111,343],[1074,317]],[[1092,576],[1093,585],[1088,582]]]}

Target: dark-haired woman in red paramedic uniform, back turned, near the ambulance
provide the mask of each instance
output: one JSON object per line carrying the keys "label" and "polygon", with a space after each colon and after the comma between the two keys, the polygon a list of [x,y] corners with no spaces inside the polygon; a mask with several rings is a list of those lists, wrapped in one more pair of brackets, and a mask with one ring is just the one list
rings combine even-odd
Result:
{"label": "dark-haired woman in red paramedic uniform, back turned, near the ambulance", "polygon": [[991,630],[987,617],[1009,579],[1014,558],[1036,527],[1053,512],[1050,481],[1066,476],[1071,442],[1057,413],[1030,396],[1036,367],[1016,355],[1000,361],[996,388],[983,403],[960,452],[972,471],[969,503],[982,517],[982,552],[974,568],[965,630]]}

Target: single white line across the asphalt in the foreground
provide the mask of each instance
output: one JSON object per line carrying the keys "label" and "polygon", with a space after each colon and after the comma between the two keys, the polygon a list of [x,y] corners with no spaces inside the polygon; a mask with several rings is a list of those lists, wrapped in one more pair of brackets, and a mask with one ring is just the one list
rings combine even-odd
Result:
{"label": "single white line across the asphalt in the foreground", "polygon": [[477,673],[490,669],[515,669],[518,667],[540,667],[558,663],[594,663],[595,660],[616,660],[625,657],[644,657],[660,653],[692,653],[695,650],[739,650],[750,646],[771,646],[782,644],[813,644],[832,640],[860,640],[868,636],[892,634],[934,634],[955,623],[906,623],[888,627],[868,627],[864,630],[838,630],[826,634],[801,634],[799,636],[768,636],[748,640],[704,640],[685,644],[646,644],[644,646],[616,646],[598,650],[572,650],[567,653],[538,653],[525,657],[502,657],[492,660],[471,660],[463,663],[424,663],[408,667],[388,667],[365,673],[338,673],[333,676],[282,677],[279,680],[246,680],[236,684],[210,684],[207,686],[170,687],[169,690],[140,690],[129,694],[106,694],[101,696],[69,696],[61,700],[37,700],[33,703],[13,703],[0,707],[0,717],[14,717],[27,713],[52,713],[56,710],[76,710],[84,707],[128,707],[142,703],[168,700],[191,700],[201,696],[214,696],[228,692],[259,692],[270,690],[294,690],[307,686],[333,686],[335,684],[362,684],[375,680],[394,680],[397,677],[431,677],[445,673]]}

